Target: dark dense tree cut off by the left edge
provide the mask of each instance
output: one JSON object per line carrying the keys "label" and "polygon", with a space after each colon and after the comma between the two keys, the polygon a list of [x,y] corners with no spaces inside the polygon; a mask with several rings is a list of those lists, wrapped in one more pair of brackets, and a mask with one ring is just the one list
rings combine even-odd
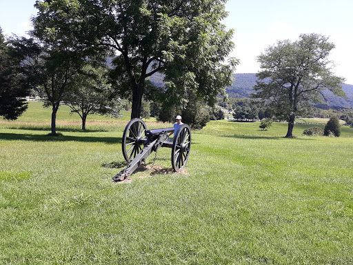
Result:
{"label": "dark dense tree cut off by the left edge", "polygon": [[27,109],[25,97],[29,88],[21,82],[16,67],[19,63],[9,55],[8,43],[0,27],[0,116],[17,119]]}

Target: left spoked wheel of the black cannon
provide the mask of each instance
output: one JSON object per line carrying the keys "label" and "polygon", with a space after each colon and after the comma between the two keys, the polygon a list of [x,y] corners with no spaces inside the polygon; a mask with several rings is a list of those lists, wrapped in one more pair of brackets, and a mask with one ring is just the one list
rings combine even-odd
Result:
{"label": "left spoked wheel of the black cannon", "polygon": [[145,143],[146,124],[142,119],[134,118],[129,121],[123,133],[123,156],[128,163],[141,152]]}

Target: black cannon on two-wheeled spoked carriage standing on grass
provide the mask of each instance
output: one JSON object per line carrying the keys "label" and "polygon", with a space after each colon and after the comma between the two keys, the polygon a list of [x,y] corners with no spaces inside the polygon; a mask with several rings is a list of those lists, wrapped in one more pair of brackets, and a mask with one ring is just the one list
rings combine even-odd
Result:
{"label": "black cannon on two-wheeled spoked carriage standing on grass", "polygon": [[179,172],[188,162],[191,147],[191,132],[187,124],[183,124],[174,136],[173,141],[168,141],[168,135],[174,133],[174,128],[161,128],[147,130],[142,119],[134,118],[126,125],[123,139],[123,157],[128,161],[128,166],[112,178],[113,181],[127,179],[145,159],[161,147],[172,148],[172,168]]}

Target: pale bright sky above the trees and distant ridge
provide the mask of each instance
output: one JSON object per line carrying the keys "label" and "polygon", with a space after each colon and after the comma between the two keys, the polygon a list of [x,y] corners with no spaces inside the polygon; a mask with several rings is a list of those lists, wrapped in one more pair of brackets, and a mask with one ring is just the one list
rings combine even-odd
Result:
{"label": "pale bright sky above the trees and distant ridge", "polygon": [[[23,36],[30,17],[37,14],[34,0],[0,0],[3,34]],[[258,72],[256,57],[279,40],[298,39],[301,33],[319,33],[336,45],[330,59],[335,73],[353,84],[353,0],[229,0],[223,21],[234,29],[232,56],[240,59],[237,73]]]}

